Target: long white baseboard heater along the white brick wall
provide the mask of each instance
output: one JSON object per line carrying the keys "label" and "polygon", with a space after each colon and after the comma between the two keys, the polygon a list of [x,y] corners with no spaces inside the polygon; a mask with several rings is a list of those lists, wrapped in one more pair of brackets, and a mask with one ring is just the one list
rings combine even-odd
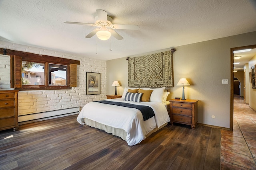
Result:
{"label": "long white baseboard heater along the white brick wall", "polygon": [[33,121],[40,119],[47,119],[47,118],[54,118],[54,117],[61,117],[67,114],[76,114],[79,113],[80,109],[79,107],[72,107],[68,109],[60,109],[60,110],[54,110],[54,111],[45,111],[41,113],[32,113],[29,115],[20,115],[18,116],[18,122],[25,122],[25,121]]}

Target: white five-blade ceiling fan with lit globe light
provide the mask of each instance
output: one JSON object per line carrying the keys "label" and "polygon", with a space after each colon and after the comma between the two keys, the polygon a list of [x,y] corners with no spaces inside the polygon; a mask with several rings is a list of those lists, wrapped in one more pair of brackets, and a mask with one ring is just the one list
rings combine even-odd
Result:
{"label": "white five-blade ceiling fan with lit globe light", "polygon": [[118,40],[123,39],[114,29],[139,29],[138,25],[121,25],[112,23],[112,18],[107,15],[107,12],[104,10],[96,10],[97,16],[95,17],[95,23],[83,23],[83,22],[70,22],[66,21],[64,23],[79,24],[79,25],[89,25],[93,27],[100,27],[92,30],[86,38],[91,38],[95,34],[101,40],[107,40],[111,35]]}

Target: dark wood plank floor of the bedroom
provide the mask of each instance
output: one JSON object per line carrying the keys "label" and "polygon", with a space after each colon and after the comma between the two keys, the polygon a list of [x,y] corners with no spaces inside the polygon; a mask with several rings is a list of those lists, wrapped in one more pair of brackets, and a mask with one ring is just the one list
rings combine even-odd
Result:
{"label": "dark wood plank floor of the bedroom", "polygon": [[220,129],[167,125],[128,146],[119,137],[80,125],[76,117],[0,131],[0,169],[220,169]]}

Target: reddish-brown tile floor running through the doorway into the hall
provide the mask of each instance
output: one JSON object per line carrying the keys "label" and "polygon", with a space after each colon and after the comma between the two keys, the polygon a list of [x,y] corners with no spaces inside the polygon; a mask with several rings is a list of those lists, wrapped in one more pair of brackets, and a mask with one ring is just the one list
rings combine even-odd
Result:
{"label": "reddish-brown tile floor running through the doorway into the hall", "polygon": [[256,170],[256,112],[234,96],[233,131],[221,130],[221,170]]}

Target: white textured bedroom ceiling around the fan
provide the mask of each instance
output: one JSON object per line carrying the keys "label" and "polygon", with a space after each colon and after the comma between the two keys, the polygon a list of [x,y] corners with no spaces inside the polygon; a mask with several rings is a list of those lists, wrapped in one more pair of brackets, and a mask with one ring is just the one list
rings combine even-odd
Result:
{"label": "white textured bedroom ceiling around the fan", "polygon": [[[94,23],[96,9],[140,29],[101,41],[85,38],[95,27],[64,23]],[[0,0],[0,39],[110,60],[256,31],[255,19],[255,0]]]}

